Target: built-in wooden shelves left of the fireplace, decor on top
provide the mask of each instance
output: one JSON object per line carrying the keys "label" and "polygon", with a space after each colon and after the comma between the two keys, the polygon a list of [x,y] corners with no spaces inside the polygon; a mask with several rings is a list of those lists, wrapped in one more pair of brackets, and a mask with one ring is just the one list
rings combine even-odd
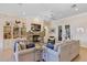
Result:
{"label": "built-in wooden shelves left of the fireplace, decor on top", "polygon": [[3,26],[3,39],[18,39],[26,37],[26,26],[25,23],[15,21],[14,24],[6,22]]}

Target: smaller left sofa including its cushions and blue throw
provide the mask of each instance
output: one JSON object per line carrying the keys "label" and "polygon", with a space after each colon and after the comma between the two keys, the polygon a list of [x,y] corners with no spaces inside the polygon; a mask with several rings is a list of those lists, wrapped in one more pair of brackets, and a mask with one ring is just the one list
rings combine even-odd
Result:
{"label": "smaller left sofa including its cushions and blue throw", "polygon": [[41,59],[41,47],[33,43],[14,42],[14,59],[17,62],[36,62]]}

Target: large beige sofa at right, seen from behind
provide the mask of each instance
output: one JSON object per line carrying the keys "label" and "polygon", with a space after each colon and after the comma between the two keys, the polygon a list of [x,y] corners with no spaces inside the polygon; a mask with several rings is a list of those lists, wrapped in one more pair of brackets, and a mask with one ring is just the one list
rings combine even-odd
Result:
{"label": "large beige sofa at right, seen from behind", "polygon": [[43,59],[46,62],[70,62],[79,55],[79,41],[62,41],[54,45],[54,50],[43,48]]}

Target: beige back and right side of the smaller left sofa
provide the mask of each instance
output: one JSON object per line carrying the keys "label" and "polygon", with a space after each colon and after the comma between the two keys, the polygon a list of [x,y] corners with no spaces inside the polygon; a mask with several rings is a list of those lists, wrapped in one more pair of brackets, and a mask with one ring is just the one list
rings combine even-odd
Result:
{"label": "beige back and right side of the smaller left sofa", "polygon": [[36,62],[41,59],[41,51],[35,47],[19,52],[19,62]]}

